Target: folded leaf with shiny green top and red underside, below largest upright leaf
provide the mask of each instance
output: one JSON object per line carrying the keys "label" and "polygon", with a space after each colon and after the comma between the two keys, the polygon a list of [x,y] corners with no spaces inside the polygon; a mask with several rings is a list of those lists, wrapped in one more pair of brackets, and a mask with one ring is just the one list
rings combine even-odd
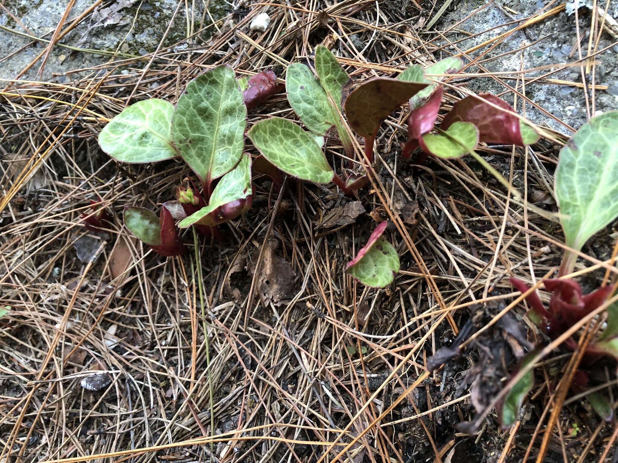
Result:
{"label": "folded leaf with shiny green top and red underside, below largest upright leaf", "polygon": [[221,207],[234,201],[246,199],[252,193],[251,156],[244,154],[239,164],[219,180],[210,196],[208,206],[202,207],[199,211],[181,220],[178,226],[187,228],[193,223],[198,223],[199,225],[213,227],[219,223],[227,222],[227,220],[235,219],[240,212],[234,217],[226,216],[222,214]]}

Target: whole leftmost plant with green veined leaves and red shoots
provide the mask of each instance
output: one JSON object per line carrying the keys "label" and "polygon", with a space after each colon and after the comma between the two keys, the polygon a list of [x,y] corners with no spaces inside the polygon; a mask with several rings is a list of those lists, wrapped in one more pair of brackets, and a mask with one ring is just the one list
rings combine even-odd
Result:
{"label": "whole leftmost plant with green veined leaves and red shoots", "polygon": [[[195,188],[178,190],[178,199],[188,215],[182,227],[195,223],[200,231],[210,234],[206,227],[235,219],[251,207],[251,160],[248,154],[243,155],[247,105],[253,107],[279,90],[274,73],[266,71],[248,80],[243,95],[234,70],[221,65],[190,81],[176,107],[160,99],[127,107],[103,128],[99,144],[120,162],[182,157],[203,187],[201,194]],[[157,220],[152,212],[130,211],[125,211],[125,223],[135,236],[164,256],[182,251],[166,207],[158,225],[159,238],[157,233],[146,233],[155,229]],[[146,227],[148,223],[150,227]]]}

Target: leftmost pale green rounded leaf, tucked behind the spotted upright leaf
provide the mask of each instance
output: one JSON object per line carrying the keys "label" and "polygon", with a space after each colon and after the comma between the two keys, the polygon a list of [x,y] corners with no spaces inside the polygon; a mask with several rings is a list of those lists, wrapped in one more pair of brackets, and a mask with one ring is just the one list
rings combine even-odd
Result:
{"label": "leftmost pale green rounded leaf, tucked behind the spotted upright leaf", "polygon": [[172,144],[174,105],[162,99],[126,107],[99,133],[99,146],[120,162],[156,162],[178,156]]}

